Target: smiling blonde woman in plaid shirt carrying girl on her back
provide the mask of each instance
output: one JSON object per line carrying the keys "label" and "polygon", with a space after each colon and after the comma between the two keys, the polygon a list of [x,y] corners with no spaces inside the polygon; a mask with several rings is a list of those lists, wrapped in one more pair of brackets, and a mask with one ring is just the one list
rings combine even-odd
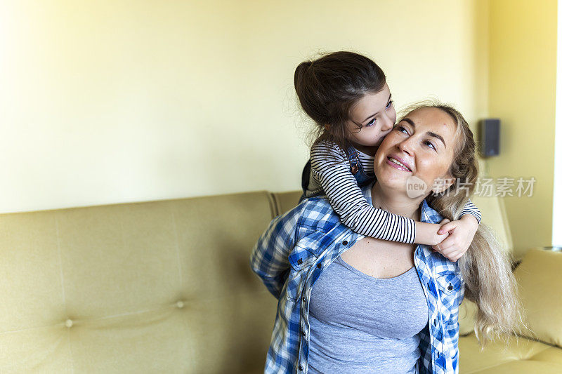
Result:
{"label": "smiling blonde woman in plaid shirt carrying girl on her back", "polygon": [[[455,193],[459,182],[469,192],[476,182],[474,150],[459,112],[419,105],[381,143],[377,182],[362,192],[391,213],[453,220],[468,198]],[[412,180],[424,194],[412,197]],[[428,246],[356,234],[313,198],[270,223],[250,262],[279,299],[266,373],[457,373],[464,295],[478,306],[483,342],[518,316],[509,262],[485,225],[451,262]]]}

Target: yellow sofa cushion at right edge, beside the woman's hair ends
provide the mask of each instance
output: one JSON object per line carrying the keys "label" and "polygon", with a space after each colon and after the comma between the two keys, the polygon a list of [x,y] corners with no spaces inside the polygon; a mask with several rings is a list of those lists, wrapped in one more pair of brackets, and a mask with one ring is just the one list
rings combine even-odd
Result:
{"label": "yellow sofa cushion at right edge, beside the woman's hair ends", "polygon": [[532,338],[562,347],[562,253],[534,248],[515,271]]}

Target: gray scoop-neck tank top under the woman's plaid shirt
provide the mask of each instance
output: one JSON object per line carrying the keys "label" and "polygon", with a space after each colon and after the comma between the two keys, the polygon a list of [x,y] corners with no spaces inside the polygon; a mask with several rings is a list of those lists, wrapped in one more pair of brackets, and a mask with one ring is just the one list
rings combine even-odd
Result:
{"label": "gray scoop-neck tank top under the woman's plaid shirt", "polygon": [[377,279],[336,258],[311,292],[309,373],[416,373],[427,301],[415,267]]}

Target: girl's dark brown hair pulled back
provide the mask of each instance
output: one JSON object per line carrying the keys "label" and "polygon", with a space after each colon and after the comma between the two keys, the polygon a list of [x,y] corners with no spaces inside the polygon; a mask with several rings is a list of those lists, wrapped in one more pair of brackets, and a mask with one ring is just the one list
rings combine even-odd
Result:
{"label": "girl's dark brown hair pulled back", "polygon": [[346,154],[351,146],[346,129],[351,107],[365,94],[382,91],[385,84],[379,65],[348,51],[301,62],[294,71],[301,107],[317,124],[315,142],[333,142]]}

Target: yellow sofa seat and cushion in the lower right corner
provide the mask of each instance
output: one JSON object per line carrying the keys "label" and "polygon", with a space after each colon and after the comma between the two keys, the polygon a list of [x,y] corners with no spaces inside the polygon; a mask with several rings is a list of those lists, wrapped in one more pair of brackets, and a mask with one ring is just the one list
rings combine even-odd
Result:
{"label": "yellow sofa seat and cushion in the lower right corner", "polygon": [[[509,345],[492,343],[483,351],[473,333],[460,338],[461,373],[562,373],[562,253],[532,248],[515,276],[528,330],[509,338]],[[466,306],[463,312],[471,314]],[[462,328],[472,328],[470,318]]]}

